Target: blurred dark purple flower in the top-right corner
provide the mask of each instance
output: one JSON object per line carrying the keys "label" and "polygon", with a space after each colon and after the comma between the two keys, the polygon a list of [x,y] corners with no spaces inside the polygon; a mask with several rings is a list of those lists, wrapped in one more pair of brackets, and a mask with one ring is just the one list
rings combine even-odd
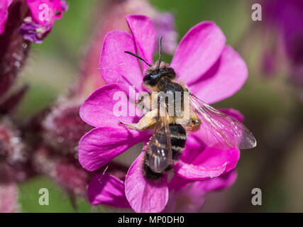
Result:
{"label": "blurred dark purple flower in the top-right corner", "polygon": [[263,69],[272,74],[280,65],[303,89],[303,1],[264,0],[265,45]]}

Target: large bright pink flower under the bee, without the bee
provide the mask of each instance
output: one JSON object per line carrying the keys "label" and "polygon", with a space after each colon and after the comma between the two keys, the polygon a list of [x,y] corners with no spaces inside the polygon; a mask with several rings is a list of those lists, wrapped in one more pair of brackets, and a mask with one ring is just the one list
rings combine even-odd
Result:
{"label": "large bright pink flower under the bee, without the bee", "polygon": [[[118,118],[113,114],[115,92],[128,94],[129,86],[134,86],[136,91],[143,90],[139,62],[124,51],[138,51],[147,62],[153,62],[155,29],[152,22],[148,17],[139,15],[128,15],[126,21],[132,34],[111,31],[104,38],[100,72],[109,85],[89,96],[80,109],[82,120],[96,127],[82,137],[78,147],[79,162],[89,171],[106,165],[136,143],[145,142],[151,135],[149,131],[133,131],[119,125],[120,121],[138,122],[138,117],[124,113]],[[144,64],[142,67],[147,69]],[[236,93],[248,74],[246,63],[233,48],[225,45],[221,29],[210,21],[197,24],[182,38],[170,67],[193,94],[209,104]],[[131,102],[128,106],[133,108]],[[243,120],[238,111],[228,109],[225,112]],[[199,133],[188,135],[182,157],[174,167],[175,174],[184,179],[204,180],[233,170],[240,156],[239,150],[207,147],[197,136]],[[145,179],[141,170],[142,160],[143,153],[128,170],[124,182],[126,199],[136,212],[160,212],[169,199],[167,175],[158,182]]]}

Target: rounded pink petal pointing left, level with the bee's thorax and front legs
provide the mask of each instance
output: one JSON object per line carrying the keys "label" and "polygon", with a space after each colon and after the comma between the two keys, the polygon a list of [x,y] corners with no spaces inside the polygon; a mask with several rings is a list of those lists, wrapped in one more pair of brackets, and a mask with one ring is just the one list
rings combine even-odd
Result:
{"label": "rounded pink petal pointing left, level with the bee's thorax and front legs", "polygon": [[[118,100],[114,100],[115,94],[119,94]],[[121,108],[119,112],[116,113],[114,106],[122,99],[120,94],[125,98],[123,104],[125,103],[126,109]],[[135,109],[135,105],[128,101],[126,94],[119,85],[110,84],[101,87],[84,101],[84,104],[82,104],[80,108],[80,117],[83,121],[94,127],[122,127],[119,122],[134,123],[139,121],[138,117],[131,116],[130,111],[135,111]],[[120,114],[121,116],[119,116]]]}

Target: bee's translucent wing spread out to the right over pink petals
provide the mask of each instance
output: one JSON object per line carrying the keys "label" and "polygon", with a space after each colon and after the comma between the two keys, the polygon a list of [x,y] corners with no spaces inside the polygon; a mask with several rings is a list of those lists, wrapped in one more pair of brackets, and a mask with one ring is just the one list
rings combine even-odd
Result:
{"label": "bee's translucent wing spread out to the right over pink petals", "polygon": [[190,104],[202,117],[199,137],[206,145],[221,150],[249,149],[257,145],[253,133],[242,123],[214,109],[193,94],[190,94]]}

